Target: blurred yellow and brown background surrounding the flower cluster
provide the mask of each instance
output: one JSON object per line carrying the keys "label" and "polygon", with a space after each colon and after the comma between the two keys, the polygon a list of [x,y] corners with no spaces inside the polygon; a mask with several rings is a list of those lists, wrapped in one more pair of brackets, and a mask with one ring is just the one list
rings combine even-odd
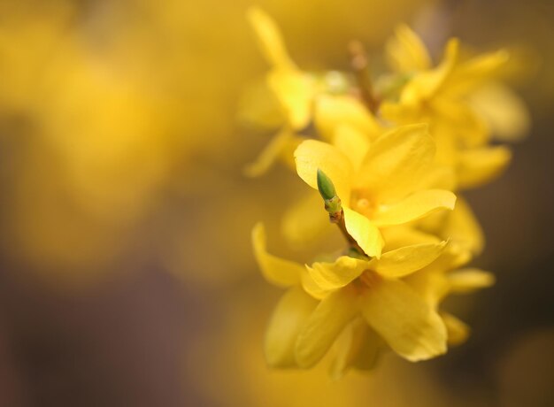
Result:
{"label": "blurred yellow and brown background surrounding the flower cluster", "polygon": [[[248,179],[267,132],[240,120],[266,66],[250,0],[0,1],[0,406],[554,405],[554,5],[547,0],[259,0],[305,69],[348,68],[398,22],[435,57],[459,36],[507,46],[531,132],[500,180],[468,194],[497,284],[448,305],[473,326],[432,362],[386,358],[335,382],[267,370],[280,290],[285,168]],[[274,237],[274,238],[273,238]]]}

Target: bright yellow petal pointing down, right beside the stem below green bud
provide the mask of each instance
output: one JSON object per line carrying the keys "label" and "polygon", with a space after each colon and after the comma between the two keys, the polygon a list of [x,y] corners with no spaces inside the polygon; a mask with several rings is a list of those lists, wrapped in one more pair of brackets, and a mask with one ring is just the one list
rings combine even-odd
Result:
{"label": "bright yellow petal pointing down, right beside the stem below green bud", "polygon": [[357,211],[343,207],[346,230],[354,238],[365,254],[369,257],[381,257],[385,242],[379,229],[373,222]]}

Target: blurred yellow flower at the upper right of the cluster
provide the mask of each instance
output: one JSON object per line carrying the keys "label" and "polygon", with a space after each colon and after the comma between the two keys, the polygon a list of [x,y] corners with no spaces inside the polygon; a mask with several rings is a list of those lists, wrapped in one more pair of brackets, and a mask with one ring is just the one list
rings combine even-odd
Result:
{"label": "blurred yellow flower at the upper right of the cluster", "polygon": [[510,162],[510,150],[490,147],[490,137],[521,138],[527,133],[528,114],[519,98],[495,79],[508,60],[506,51],[460,61],[458,49],[458,40],[450,40],[434,68],[419,37],[409,27],[397,27],[387,57],[405,85],[397,100],[381,104],[380,112],[395,123],[428,123],[438,162],[453,166],[458,188],[473,188],[496,178]]}

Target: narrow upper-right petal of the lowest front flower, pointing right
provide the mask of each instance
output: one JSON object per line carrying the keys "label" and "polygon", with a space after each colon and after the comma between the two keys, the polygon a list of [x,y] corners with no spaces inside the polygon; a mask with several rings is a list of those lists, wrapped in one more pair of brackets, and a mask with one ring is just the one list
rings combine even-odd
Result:
{"label": "narrow upper-right petal of the lowest front flower, pointing right", "polygon": [[421,243],[391,250],[373,258],[370,268],[383,277],[400,278],[431,264],[442,254],[446,242]]}

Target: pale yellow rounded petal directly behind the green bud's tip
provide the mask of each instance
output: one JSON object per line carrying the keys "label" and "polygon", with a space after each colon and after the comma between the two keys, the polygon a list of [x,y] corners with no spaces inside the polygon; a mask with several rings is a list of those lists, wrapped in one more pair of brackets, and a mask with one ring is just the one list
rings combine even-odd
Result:
{"label": "pale yellow rounded petal directly behind the green bud's tip", "polygon": [[317,172],[321,169],[333,181],[342,205],[348,205],[352,164],[340,150],[327,142],[306,140],[296,149],[295,159],[296,172],[304,182],[317,190]]}

